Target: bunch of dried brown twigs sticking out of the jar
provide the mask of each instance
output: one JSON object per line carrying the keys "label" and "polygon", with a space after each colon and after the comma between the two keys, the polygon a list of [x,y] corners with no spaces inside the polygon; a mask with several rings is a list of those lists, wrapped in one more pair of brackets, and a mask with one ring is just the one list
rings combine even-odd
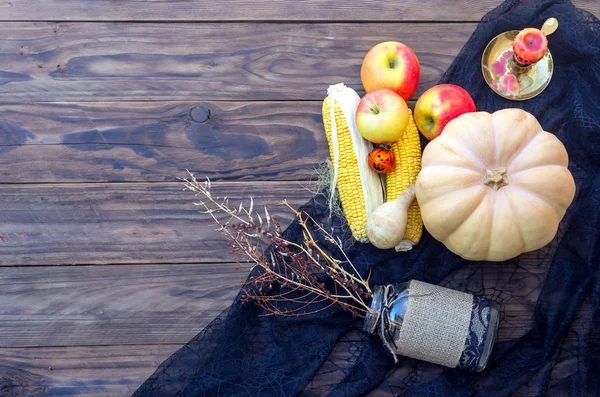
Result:
{"label": "bunch of dried brown twigs sticking out of the jar", "polygon": [[[262,216],[255,211],[252,199],[247,207],[240,203],[231,208],[227,197],[212,195],[209,179],[199,182],[190,173],[183,182],[199,197],[194,204],[209,214],[217,230],[227,236],[231,252],[241,257],[238,265],[260,267],[242,287],[242,302],[253,301],[268,314],[285,316],[313,314],[333,305],[362,318],[369,312],[365,302],[372,297],[369,279],[356,271],[339,237],[311,216],[283,202],[302,228],[302,242],[296,243],[285,239],[281,225],[266,206]],[[219,213],[229,218],[223,221]],[[334,258],[318,243],[317,233],[339,251],[341,258]]]}

